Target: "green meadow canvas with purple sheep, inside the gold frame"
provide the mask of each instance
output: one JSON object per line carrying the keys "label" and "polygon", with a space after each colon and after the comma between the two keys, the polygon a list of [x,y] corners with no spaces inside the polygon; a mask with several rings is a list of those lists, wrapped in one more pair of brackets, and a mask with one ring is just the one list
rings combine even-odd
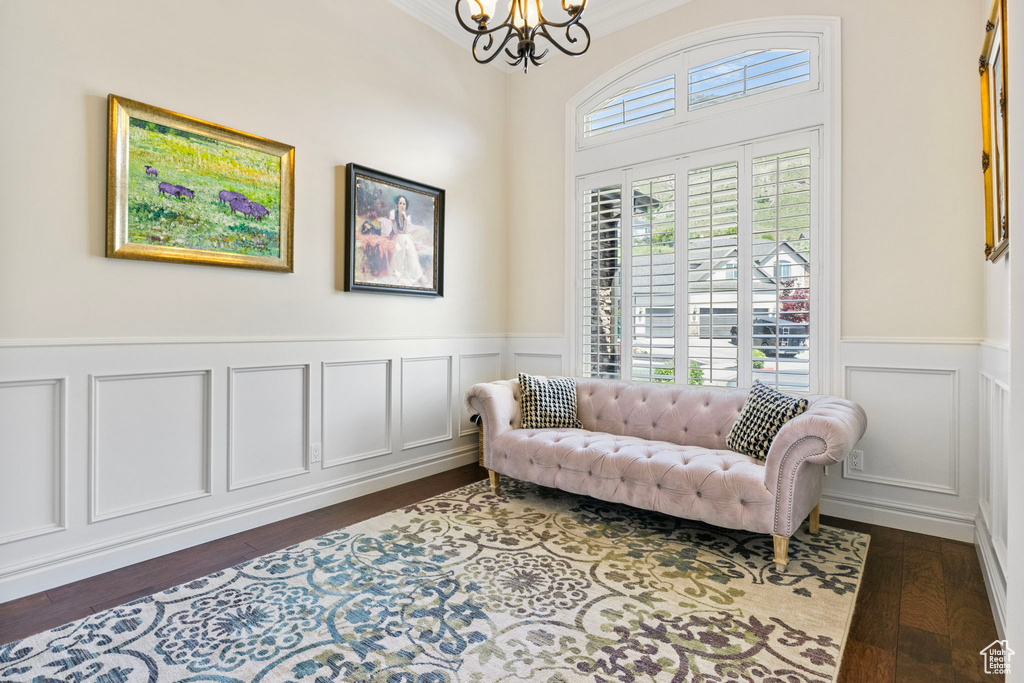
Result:
{"label": "green meadow canvas with purple sheep, inside the gold frame", "polygon": [[281,254],[281,158],[130,119],[128,240]]}

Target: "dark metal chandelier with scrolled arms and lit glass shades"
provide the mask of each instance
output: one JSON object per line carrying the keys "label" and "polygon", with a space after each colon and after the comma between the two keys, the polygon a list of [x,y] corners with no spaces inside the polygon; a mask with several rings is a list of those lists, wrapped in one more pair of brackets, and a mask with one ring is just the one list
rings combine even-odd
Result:
{"label": "dark metal chandelier with scrolled arms and lit glass shades", "polygon": [[[572,5],[561,0],[562,10],[568,15],[564,22],[549,22],[542,9],[542,0],[510,0],[505,19],[490,26],[495,5],[500,0],[456,0],[455,14],[462,28],[475,36],[473,58],[481,65],[490,63],[499,55],[509,58],[509,65],[522,65],[523,72],[530,65],[541,66],[550,49],[538,53],[537,41],[544,38],[559,51],[579,56],[590,48],[590,31],[580,19],[587,0]],[[466,16],[469,16],[467,22]]]}

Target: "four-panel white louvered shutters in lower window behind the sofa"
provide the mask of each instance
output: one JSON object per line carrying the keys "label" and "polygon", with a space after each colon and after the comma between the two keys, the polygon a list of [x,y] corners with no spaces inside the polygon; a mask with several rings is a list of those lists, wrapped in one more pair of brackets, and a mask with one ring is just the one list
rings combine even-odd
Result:
{"label": "four-panel white louvered shutters in lower window behind the sofa", "polygon": [[816,144],[794,133],[587,179],[578,372],[817,390]]}

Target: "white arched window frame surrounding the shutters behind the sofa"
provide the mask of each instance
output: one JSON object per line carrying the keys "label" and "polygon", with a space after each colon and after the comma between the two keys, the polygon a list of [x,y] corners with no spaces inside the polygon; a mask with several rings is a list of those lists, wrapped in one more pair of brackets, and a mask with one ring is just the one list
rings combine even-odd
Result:
{"label": "white arched window frame surrounding the shutters behind the sofa", "polygon": [[[841,99],[841,46],[839,17],[822,16],[779,16],[740,22],[684,36],[665,45],[638,55],[634,59],[605,74],[595,81],[577,97],[572,98],[566,109],[566,194],[570,201],[566,202],[566,254],[571,255],[569,267],[566,268],[566,302],[565,330],[567,342],[568,368],[572,374],[581,370],[580,358],[580,319],[577,314],[581,301],[577,273],[580,267],[579,242],[579,205],[581,182],[586,182],[589,176],[601,172],[605,178],[615,173],[612,169],[628,171],[628,177],[623,177],[624,198],[632,197],[626,191],[631,188],[633,178],[647,177],[643,167],[672,164],[682,164],[686,159],[695,160],[706,155],[714,155],[719,148],[735,147],[749,144],[750,156],[740,163],[750,163],[756,156],[770,154],[767,150],[787,152],[781,144],[774,146],[772,141],[782,140],[790,133],[816,135],[817,159],[812,160],[812,178],[814,182],[814,218],[819,226],[812,241],[812,325],[817,328],[812,334],[817,343],[812,347],[812,376],[810,393],[835,393],[842,386],[842,371],[840,367],[840,322],[841,322],[841,150],[842,139],[842,99]],[[692,54],[706,63],[716,54],[712,50],[721,51],[721,56],[728,56],[745,49],[759,49],[758,45],[771,44],[775,48],[799,47],[800,43],[785,42],[785,37],[813,40],[817,46],[817,58],[812,55],[812,70],[817,74],[808,88],[785,87],[743,97],[720,105],[696,110],[690,114],[687,121],[678,121],[686,110],[686,92],[683,90],[687,82],[688,70],[677,72],[677,93],[675,117],[668,117],[655,125],[636,126],[633,129],[616,131],[612,134],[589,138],[597,140],[598,144],[581,145],[583,117],[590,110],[588,104],[606,99],[615,91],[630,87],[630,76],[650,80],[655,73],[650,71],[655,67],[664,68],[666,60],[677,56],[680,62],[685,61],[683,55]],[[750,42],[744,42],[750,41]],[[679,65],[681,68],[682,63]],[[813,84],[810,87],[809,84]],[[765,96],[762,96],[765,95]],[[769,97],[770,95],[770,97]],[[756,115],[753,111],[756,110]],[[745,122],[749,125],[744,125]],[[669,123],[671,122],[671,125]],[[642,129],[642,132],[641,132]],[[737,133],[737,131],[739,131]],[[628,134],[623,134],[628,133]],[[736,139],[738,136],[742,139]],[[614,139],[612,139],[614,137]],[[700,148],[694,139],[705,142]],[[806,139],[806,138],[805,138]],[[766,146],[767,145],[767,146]],[[803,146],[807,146],[804,144]],[[793,148],[798,148],[797,146]],[[678,151],[676,155],[666,155],[666,150]],[[711,158],[711,157],[708,157]],[[709,165],[707,163],[705,166]],[[635,172],[634,172],[635,170]],[[639,173],[639,174],[637,174]],[[741,174],[741,177],[743,174]],[[685,187],[686,176],[677,176],[677,191]],[[682,184],[681,184],[682,183]],[[589,183],[587,183],[589,184]],[[749,191],[744,190],[744,191]],[[750,207],[742,208],[750,210]],[[677,242],[677,250],[681,245]],[[743,263],[740,262],[740,267]],[[678,269],[677,272],[684,269]],[[626,272],[623,276],[626,276]],[[681,273],[684,274],[684,273]],[[625,281],[624,281],[625,282]],[[744,296],[740,292],[740,297]],[[751,294],[748,292],[746,297]],[[686,297],[685,290],[677,290],[677,307]],[[624,308],[626,301],[624,297]],[[748,310],[750,308],[748,307]],[[625,313],[625,311],[624,311]],[[627,345],[626,330],[623,330],[623,377],[627,377],[627,354],[631,352]],[[685,336],[686,316],[676,317],[677,343],[685,344],[678,339]],[[750,364],[744,362],[745,356],[740,355],[740,369]],[[683,369],[685,370],[685,368]],[[677,368],[676,381],[684,381],[686,373]],[[740,374],[749,376],[749,368]]]}

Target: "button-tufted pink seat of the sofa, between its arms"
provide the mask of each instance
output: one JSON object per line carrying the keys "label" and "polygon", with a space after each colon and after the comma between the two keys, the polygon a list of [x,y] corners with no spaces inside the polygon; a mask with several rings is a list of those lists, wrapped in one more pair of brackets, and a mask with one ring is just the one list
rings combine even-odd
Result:
{"label": "button-tufted pink seat of the sofa, between its arms", "polygon": [[585,429],[513,429],[495,467],[532,481],[718,526],[771,532],[764,465],[731,451]]}

